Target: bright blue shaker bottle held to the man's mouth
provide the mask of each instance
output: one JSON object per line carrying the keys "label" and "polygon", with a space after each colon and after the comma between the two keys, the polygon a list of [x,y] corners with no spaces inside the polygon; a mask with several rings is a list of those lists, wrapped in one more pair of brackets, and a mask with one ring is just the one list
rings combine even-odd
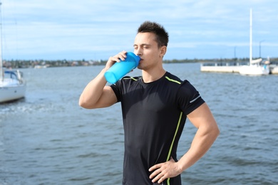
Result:
{"label": "bright blue shaker bottle held to the man's mouth", "polygon": [[140,57],[136,56],[132,52],[126,53],[125,60],[120,60],[119,63],[112,65],[105,73],[105,79],[108,83],[116,83],[120,78],[130,72],[130,70],[135,69],[140,61]]}

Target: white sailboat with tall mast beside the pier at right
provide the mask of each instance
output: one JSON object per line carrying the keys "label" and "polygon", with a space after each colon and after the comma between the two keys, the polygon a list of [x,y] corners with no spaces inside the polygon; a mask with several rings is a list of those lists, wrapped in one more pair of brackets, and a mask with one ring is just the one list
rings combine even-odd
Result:
{"label": "white sailboat with tall mast beside the pier at right", "polygon": [[250,9],[250,43],[249,43],[249,65],[242,65],[240,67],[241,75],[268,75],[269,65],[260,65],[262,58],[252,60],[252,9]]}

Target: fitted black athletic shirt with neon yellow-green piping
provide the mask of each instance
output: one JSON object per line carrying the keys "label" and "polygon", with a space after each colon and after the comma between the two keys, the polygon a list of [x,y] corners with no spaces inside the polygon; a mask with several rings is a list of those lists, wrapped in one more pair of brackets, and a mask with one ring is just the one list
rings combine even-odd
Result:
{"label": "fitted black athletic shirt with neon yellow-green piping", "polygon": [[[186,117],[205,101],[187,80],[168,72],[152,83],[144,83],[141,77],[124,77],[110,87],[123,113],[123,184],[153,184],[148,169],[171,157],[177,162],[177,144]],[[181,184],[180,175],[163,184]]]}

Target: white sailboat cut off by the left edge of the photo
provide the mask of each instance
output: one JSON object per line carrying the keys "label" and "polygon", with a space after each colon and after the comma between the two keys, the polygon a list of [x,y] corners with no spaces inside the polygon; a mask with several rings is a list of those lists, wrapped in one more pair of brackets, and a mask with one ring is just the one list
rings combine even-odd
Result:
{"label": "white sailboat cut off by the left edge of the photo", "polygon": [[[1,11],[1,2],[0,2]],[[0,12],[1,21],[1,12]],[[25,96],[26,82],[19,70],[4,70],[2,60],[2,23],[0,22],[0,102],[18,100]]]}

